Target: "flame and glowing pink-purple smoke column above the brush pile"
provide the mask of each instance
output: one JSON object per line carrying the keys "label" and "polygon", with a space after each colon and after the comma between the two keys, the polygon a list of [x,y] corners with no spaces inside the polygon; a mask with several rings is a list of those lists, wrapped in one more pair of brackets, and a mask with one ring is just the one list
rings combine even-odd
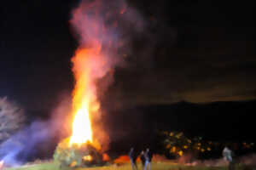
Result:
{"label": "flame and glowing pink-purple smoke column above the brush pile", "polygon": [[79,7],[73,10],[70,21],[79,35],[79,49],[72,58],[75,88],[70,145],[89,141],[94,146],[101,143],[106,147],[108,143],[108,135],[103,132],[100,122],[96,83],[102,78],[110,78],[110,81],[101,84],[99,92],[102,94],[112,82],[113,74],[108,73],[113,72],[122,60],[119,59],[118,49],[123,42],[119,40],[117,23],[119,15],[125,14],[124,6],[123,1],[81,1]]}

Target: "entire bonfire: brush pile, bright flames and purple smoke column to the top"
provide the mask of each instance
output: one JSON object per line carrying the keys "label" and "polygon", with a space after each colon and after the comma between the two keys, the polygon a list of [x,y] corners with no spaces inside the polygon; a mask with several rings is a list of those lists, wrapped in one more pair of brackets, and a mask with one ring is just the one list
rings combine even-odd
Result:
{"label": "entire bonfire: brush pile, bright flames and purple smoke column to the top", "polygon": [[[54,156],[65,166],[102,164],[102,146],[108,145],[108,135],[99,121],[101,104],[97,82],[103,77],[112,77],[113,69],[122,60],[117,57],[117,49],[123,42],[116,29],[118,16],[125,13],[125,4],[112,5],[115,8],[110,11],[102,1],[82,2],[72,12],[70,23],[79,35],[79,48],[72,58],[73,131],[58,144]],[[105,86],[107,88],[108,81]]]}

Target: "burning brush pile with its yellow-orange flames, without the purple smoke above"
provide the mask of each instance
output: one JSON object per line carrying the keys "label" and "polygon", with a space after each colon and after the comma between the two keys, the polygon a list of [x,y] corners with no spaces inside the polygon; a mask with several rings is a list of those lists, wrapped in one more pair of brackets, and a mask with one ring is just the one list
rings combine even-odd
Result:
{"label": "burning brush pile with its yellow-orange flames, without the purple smoke above", "polygon": [[99,111],[100,105],[95,94],[96,85],[90,75],[93,68],[88,63],[88,59],[101,57],[99,49],[79,49],[72,59],[76,80],[73,90],[73,133],[55,150],[54,159],[60,161],[61,166],[90,167],[103,163],[102,151],[96,139],[93,139],[91,127],[91,116]]}

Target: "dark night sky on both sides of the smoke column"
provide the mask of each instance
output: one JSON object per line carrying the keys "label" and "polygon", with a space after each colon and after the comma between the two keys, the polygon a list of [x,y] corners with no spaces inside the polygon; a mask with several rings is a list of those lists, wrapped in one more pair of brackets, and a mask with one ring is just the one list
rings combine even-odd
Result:
{"label": "dark night sky on both sides of the smoke column", "polygon": [[[49,112],[71,93],[78,44],[68,20],[78,3],[1,3],[0,96],[27,111]],[[128,4],[147,26],[132,36],[128,63],[115,71],[107,92],[111,99],[136,105],[256,99],[254,1]]]}

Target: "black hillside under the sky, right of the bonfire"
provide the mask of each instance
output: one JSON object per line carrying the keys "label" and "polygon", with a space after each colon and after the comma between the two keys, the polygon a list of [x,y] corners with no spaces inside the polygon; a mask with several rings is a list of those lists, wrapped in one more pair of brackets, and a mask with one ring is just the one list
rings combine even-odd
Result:
{"label": "black hillside under the sky, right of the bonfire", "polygon": [[[200,105],[188,102],[172,105],[137,105],[125,108],[122,114],[119,113],[122,110],[110,111],[112,114],[106,115],[108,118],[105,123],[107,126],[110,124],[110,133],[115,131],[119,134],[125,133],[127,128],[128,133],[135,131],[139,136],[139,133],[166,130],[183,132],[190,137],[201,136],[203,139],[219,142],[253,142],[255,141],[255,136],[252,135],[255,102],[256,100]],[[226,114],[230,111],[232,111],[230,115]],[[132,112],[137,114],[134,119]],[[114,116],[117,118],[114,119]],[[119,122],[119,120],[125,120],[125,122]],[[124,128],[120,124],[123,124]],[[132,126],[129,127],[129,124]],[[115,139],[114,136],[119,135],[113,135],[112,139]],[[129,137],[129,135],[126,136]]]}

